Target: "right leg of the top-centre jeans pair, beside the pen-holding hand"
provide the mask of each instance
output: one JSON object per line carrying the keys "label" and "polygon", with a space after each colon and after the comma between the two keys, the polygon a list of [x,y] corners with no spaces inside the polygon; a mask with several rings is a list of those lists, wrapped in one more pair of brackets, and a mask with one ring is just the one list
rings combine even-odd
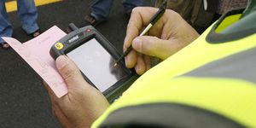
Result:
{"label": "right leg of the top-centre jeans pair, beside the pen-holding hand", "polygon": [[130,14],[135,7],[143,6],[143,0],[123,0],[123,6],[126,14]]}

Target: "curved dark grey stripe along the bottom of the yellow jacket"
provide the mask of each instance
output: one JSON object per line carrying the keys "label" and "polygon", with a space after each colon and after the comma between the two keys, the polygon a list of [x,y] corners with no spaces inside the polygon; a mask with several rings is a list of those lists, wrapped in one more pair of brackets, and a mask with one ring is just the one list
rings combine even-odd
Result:
{"label": "curved dark grey stripe along the bottom of the yellow jacket", "polygon": [[218,113],[201,108],[175,103],[150,103],[119,108],[110,113],[100,127],[242,128],[244,126]]}

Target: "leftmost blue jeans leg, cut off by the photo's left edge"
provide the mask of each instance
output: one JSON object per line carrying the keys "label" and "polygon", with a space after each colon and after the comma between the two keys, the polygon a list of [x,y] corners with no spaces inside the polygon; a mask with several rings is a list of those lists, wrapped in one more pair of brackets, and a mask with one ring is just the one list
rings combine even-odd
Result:
{"label": "leftmost blue jeans leg, cut off by the photo's left edge", "polygon": [[[13,28],[6,13],[4,0],[0,0],[0,5],[0,37],[11,37],[13,34]],[[0,38],[0,44],[3,42],[3,38]]]}

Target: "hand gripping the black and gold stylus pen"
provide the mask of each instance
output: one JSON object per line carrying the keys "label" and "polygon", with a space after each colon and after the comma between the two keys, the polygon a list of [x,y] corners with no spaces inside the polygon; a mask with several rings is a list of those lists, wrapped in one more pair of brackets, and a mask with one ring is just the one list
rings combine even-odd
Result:
{"label": "hand gripping the black and gold stylus pen", "polygon": [[143,74],[150,68],[151,56],[165,60],[199,37],[195,29],[171,9],[166,9],[147,36],[138,37],[157,11],[155,8],[137,7],[131,13],[123,49],[125,51],[132,46],[133,50],[125,57],[125,65],[135,67],[137,74]]}

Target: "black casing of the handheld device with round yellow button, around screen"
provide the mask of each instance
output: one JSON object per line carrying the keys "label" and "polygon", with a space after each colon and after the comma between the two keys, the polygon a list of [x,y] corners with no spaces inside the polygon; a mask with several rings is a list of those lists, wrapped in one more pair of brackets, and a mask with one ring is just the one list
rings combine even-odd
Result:
{"label": "black casing of the handheld device with round yellow button, around screen", "polygon": [[[80,45],[86,43],[92,38],[96,38],[102,47],[106,49],[110,55],[112,55],[113,59],[119,59],[121,55],[118,53],[117,49],[115,49],[113,45],[110,44],[108,39],[104,38],[100,32],[97,32],[93,26],[84,26],[68,33],[65,37],[61,38],[51,47],[49,53],[54,59],[56,59],[58,56],[66,55],[73,49],[78,48]],[[61,44],[61,47],[56,46],[58,44]],[[110,88],[108,88],[108,90],[102,92],[102,94],[107,97],[108,102],[113,102],[116,98],[121,96],[122,93],[127,90],[130,85],[138,78],[138,75],[135,73],[134,69],[128,69],[125,67],[124,61],[121,61],[119,66],[125,70],[127,75],[125,78],[120,79],[117,83],[113,84]],[[93,84],[90,79],[84,75],[84,73],[82,74],[88,83],[96,87],[96,85]]]}

